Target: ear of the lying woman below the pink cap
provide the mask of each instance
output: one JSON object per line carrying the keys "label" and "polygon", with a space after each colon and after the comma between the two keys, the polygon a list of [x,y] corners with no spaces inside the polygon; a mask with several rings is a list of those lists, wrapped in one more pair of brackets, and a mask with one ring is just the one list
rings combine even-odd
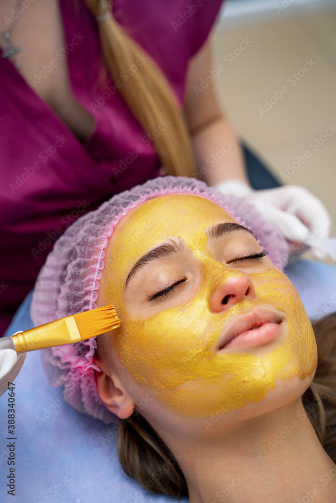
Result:
{"label": "ear of the lying woman below the pink cap", "polygon": [[98,395],[106,407],[120,419],[129,417],[134,411],[135,403],[128,395],[119,377],[116,374],[112,374],[110,377],[103,371],[95,371],[94,374]]}

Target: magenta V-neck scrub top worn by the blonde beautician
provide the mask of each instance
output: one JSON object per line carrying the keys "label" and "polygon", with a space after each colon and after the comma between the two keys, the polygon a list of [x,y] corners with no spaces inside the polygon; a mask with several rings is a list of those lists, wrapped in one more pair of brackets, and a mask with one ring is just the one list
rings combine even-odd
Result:
{"label": "magenta V-neck scrub top worn by the blonde beautician", "polygon": [[[65,228],[113,194],[159,176],[160,160],[118,94],[117,81],[100,83],[95,19],[81,0],[59,3],[66,47],[55,60],[68,58],[72,93],[94,117],[95,129],[81,143],[12,62],[0,57],[0,337]],[[220,6],[221,0],[116,0],[113,15],[154,58],[182,104],[188,62]],[[132,78],[131,70],[120,82]],[[52,68],[41,67],[32,83],[38,85],[44,71]],[[158,130],[165,127],[163,118]]]}

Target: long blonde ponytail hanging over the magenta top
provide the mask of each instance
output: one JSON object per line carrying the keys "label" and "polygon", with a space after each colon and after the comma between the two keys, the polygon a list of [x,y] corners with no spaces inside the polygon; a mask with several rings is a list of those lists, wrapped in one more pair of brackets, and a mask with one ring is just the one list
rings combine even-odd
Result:
{"label": "long blonde ponytail hanging over the magenta top", "polygon": [[[101,17],[98,22],[101,47],[106,67],[116,81],[121,72],[136,65],[145,51],[109,16],[109,0],[85,0],[85,3],[95,18]],[[119,93],[151,139],[161,120],[171,123],[153,138],[168,175],[191,177],[194,160],[187,127],[172,89],[153,59],[149,57],[142,66],[137,65],[137,71],[120,83]]]}

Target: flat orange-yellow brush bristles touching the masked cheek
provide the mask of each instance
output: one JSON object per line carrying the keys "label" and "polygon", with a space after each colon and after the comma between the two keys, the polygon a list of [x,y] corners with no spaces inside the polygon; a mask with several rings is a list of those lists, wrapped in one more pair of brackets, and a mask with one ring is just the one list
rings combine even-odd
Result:
{"label": "flat orange-yellow brush bristles touching the masked cheek", "polygon": [[97,307],[84,313],[74,314],[74,319],[82,341],[99,336],[100,333],[120,326],[120,319],[112,304]]}

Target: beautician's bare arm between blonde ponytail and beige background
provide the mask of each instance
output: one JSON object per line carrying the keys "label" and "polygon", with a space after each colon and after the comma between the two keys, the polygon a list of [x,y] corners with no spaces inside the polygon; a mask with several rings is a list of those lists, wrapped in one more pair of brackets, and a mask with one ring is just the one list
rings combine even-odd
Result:
{"label": "beautician's bare arm between blonde ponytail and beige background", "polygon": [[207,42],[190,63],[184,102],[197,171],[208,185],[225,180],[248,183],[238,137],[220,109],[213,84],[199,91],[201,78],[205,79],[210,69]]}

